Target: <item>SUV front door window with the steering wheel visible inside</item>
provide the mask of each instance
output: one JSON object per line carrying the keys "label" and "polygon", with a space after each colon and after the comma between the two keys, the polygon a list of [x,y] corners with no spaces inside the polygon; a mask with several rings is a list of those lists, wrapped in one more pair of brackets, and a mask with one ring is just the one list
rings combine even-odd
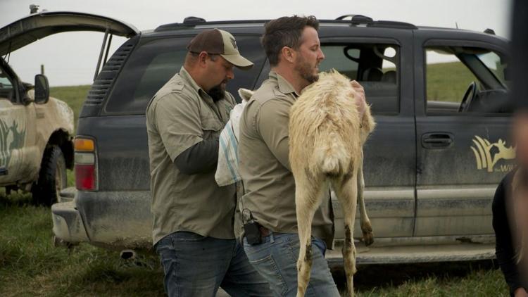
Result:
{"label": "SUV front door window with the steering wheel visible inside", "polygon": [[506,63],[491,50],[430,46],[426,53],[427,113],[508,113]]}

